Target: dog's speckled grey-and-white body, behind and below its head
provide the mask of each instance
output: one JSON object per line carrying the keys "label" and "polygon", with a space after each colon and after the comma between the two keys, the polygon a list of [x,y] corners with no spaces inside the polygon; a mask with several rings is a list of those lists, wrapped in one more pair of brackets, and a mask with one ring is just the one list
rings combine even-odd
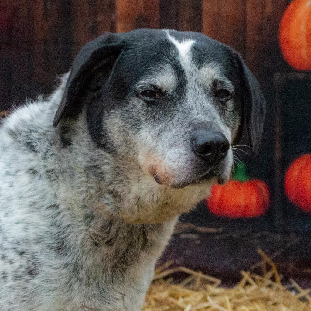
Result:
{"label": "dog's speckled grey-and-white body, behind and below its head", "polygon": [[1,128],[0,310],[138,310],[174,221],[131,225],[106,208],[115,199],[90,166],[113,161],[83,117],[63,150],[52,126],[60,94]]}

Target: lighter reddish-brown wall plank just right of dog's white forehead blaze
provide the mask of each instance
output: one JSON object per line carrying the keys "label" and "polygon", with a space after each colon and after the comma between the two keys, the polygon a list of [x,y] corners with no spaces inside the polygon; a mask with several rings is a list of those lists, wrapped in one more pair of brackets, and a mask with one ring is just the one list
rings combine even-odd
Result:
{"label": "lighter reddish-brown wall plank just right of dog's white forehead blaze", "polygon": [[203,33],[245,54],[244,0],[203,0]]}

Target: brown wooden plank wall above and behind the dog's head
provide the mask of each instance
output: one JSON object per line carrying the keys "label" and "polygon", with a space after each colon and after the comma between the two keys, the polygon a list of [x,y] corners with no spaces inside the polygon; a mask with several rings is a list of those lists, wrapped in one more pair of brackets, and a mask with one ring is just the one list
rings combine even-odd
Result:
{"label": "brown wooden plank wall above and behind the dog's head", "polygon": [[[105,31],[202,31],[245,57],[262,84],[282,63],[288,0],[0,0],[0,110],[53,89],[78,49]],[[268,90],[269,92],[269,90]]]}

